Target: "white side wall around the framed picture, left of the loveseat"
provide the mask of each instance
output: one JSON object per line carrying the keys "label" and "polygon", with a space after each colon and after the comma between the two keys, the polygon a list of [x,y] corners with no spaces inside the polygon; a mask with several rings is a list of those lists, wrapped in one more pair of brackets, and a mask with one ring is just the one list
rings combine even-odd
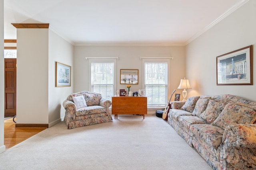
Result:
{"label": "white side wall around the framed picture, left of the loveseat", "polygon": [[[49,30],[49,127],[64,119],[65,109],[62,103],[74,91],[73,59],[74,46]],[[56,61],[71,66],[71,87],[55,87]]]}

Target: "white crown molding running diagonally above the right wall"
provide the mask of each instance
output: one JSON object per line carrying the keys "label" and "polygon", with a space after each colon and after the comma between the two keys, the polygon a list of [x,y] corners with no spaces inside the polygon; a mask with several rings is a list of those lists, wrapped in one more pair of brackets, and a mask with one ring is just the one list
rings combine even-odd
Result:
{"label": "white crown molding running diagonally above the right wall", "polygon": [[203,30],[201,30],[200,32],[196,33],[194,36],[192,36],[190,39],[188,39],[188,41],[186,41],[186,45],[188,45],[189,43],[191,43],[194,39],[196,39],[197,37],[199,37],[200,35],[202,35],[204,32],[206,32],[208,29],[210,29],[211,27],[213,27],[214,25],[216,25],[218,22],[220,22],[221,20],[223,20],[224,18],[226,18],[229,14],[231,14],[232,12],[234,12],[235,10],[237,10],[238,8],[240,8],[241,6],[243,6],[246,2],[248,2],[250,0],[242,0],[239,1],[238,3],[236,3],[234,6],[232,6],[231,8],[229,8],[224,14],[222,14],[219,18],[217,18],[216,20],[214,20],[212,23],[210,23],[208,26],[206,26]]}

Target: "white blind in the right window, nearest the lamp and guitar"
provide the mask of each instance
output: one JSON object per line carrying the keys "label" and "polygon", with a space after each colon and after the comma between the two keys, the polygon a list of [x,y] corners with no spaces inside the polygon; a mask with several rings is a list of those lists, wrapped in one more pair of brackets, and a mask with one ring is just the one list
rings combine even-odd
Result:
{"label": "white blind in the right window, nearest the lamp and guitar", "polygon": [[166,106],[168,90],[168,63],[147,62],[144,63],[144,83],[148,107]]}

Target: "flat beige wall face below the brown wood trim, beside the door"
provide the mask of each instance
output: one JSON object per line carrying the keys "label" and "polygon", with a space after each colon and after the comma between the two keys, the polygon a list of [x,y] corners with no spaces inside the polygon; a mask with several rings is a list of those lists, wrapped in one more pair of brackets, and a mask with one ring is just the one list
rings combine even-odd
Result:
{"label": "flat beige wall face below the brown wood trim, beside the door", "polygon": [[48,124],[48,29],[17,29],[17,123]]}

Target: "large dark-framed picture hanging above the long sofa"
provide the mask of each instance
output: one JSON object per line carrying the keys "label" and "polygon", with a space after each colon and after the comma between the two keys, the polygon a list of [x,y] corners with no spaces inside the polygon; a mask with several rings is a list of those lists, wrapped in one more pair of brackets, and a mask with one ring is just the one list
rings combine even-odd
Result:
{"label": "large dark-framed picture hanging above the long sofa", "polygon": [[220,55],[217,85],[252,85],[252,45]]}

